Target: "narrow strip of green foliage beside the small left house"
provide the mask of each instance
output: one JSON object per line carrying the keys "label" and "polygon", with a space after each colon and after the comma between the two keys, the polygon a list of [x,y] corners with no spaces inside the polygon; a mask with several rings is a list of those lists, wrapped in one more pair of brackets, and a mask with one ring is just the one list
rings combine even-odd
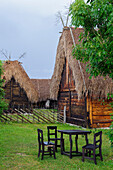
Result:
{"label": "narrow strip of green foliage beside the small left house", "polygon": [[2,88],[4,80],[1,78],[2,74],[3,74],[3,68],[2,68],[2,61],[0,60],[0,115],[3,113],[3,110],[7,109],[8,106],[8,104],[4,99],[5,94]]}

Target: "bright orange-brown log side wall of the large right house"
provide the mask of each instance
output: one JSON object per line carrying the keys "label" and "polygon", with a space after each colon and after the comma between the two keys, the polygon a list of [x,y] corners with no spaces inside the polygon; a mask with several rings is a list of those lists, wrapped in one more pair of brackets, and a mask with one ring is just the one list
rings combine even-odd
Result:
{"label": "bright orange-brown log side wall of the large right house", "polygon": [[113,110],[109,105],[110,102],[111,101],[103,102],[102,100],[87,98],[87,110],[89,111],[92,128],[109,127],[111,125],[113,120],[111,119],[110,113],[112,113]]}

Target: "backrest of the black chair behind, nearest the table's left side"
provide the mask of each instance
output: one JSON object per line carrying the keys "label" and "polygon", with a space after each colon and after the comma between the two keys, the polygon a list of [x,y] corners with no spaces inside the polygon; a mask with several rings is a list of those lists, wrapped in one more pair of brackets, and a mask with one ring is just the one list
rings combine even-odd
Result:
{"label": "backrest of the black chair behind, nearest the table's left side", "polygon": [[48,141],[51,140],[51,138],[57,138],[57,126],[47,126],[48,129]]}

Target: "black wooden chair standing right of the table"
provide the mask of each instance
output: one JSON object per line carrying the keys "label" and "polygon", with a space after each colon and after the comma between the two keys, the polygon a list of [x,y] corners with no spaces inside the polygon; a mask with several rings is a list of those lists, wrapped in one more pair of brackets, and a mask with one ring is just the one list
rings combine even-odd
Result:
{"label": "black wooden chair standing right of the table", "polygon": [[[86,158],[86,159],[94,160],[94,163],[97,164],[96,162],[97,156],[100,156],[101,161],[103,161],[101,146],[102,146],[102,131],[94,134],[93,144],[87,144],[82,147],[82,161],[84,162],[84,159]],[[97,148],[99,149],[98,154],[96,154]],[[91,154],[91,151],[93,151],[93,154]],[[91,158],[91,155],[93,155],[93,158]]]}

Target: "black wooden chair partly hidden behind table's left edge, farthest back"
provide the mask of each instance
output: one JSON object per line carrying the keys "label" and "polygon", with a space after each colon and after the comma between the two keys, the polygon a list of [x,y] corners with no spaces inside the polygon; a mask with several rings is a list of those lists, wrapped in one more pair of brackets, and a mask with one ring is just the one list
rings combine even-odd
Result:
{"label": "black wooden chair partly hidden behind table's left edge, farthest back", "polygon": [[[61,138],[57,138],[57,126],[47,126],[48,129],[48,142],[54,141],[55,143],[55,151],[57,152],[57,147],[61,148],[61,142],[63,142],[64,147],[64,140],[61,141]],[[58,144],[60,141],[60,144]]]}

